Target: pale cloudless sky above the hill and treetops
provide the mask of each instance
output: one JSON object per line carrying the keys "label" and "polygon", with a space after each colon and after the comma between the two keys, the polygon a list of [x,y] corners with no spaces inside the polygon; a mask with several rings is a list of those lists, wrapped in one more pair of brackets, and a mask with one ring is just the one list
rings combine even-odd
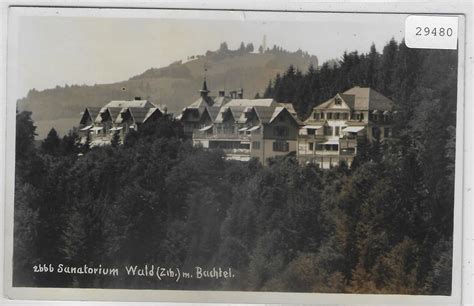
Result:
{"label": "pale cloudless sky above the hill and treetops", "polygon": [[[32,88],[126,80],[145,70],[216,50],[225,41],[255,49],[266,36],[289,51],[316,55],[320,64],[344,51],[378,50],[403,38],[406,15],[164,10],[24,12],[10,24],[16,96]],[[33,15],[33,16],[32,16]],[[13,50],[13,51],[12,51]],[[10,69],[11,70],[11,69]]]}

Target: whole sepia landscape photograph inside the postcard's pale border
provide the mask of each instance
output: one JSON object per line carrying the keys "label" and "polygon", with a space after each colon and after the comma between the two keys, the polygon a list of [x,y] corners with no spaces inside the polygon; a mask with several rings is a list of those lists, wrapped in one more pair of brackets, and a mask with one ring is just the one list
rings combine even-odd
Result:
{"label": "whole sepia landscape photograph inside the postcard's pale border", "polygon": [[452,295],[458,48],[409,14],[96,11],[12,18],[13,288]]}

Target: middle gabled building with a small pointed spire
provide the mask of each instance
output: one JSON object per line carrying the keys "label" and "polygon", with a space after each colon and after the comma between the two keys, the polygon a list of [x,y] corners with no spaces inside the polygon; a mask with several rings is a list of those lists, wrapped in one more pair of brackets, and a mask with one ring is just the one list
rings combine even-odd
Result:
{"label": "middle gabled building with a small pointed spire", "polygon": [[209,96],[206,81],[200,97],[178,117],[195,145],[221,148],[228,159],[246,161],[296,154],[301,122],[293,107],[273,99],[244,99],[243,90]]}

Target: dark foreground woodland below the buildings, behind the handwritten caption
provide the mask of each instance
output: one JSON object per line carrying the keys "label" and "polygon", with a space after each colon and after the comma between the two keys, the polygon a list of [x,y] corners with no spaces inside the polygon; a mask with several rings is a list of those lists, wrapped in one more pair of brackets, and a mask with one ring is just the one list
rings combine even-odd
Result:
{"label": "dark foreground woodland below the buildings, behind the handwritten caption", "polygon": [[[450,294],[456,87],[432,74],[420,82],[408,124],[367,144],[351,169],[225,160],[166,120],[121,146],[84,150],[68,135],[57,146],[69,149],[56,150],[52,133],[37,149],[20,113],[14,285]],[[39,263],[121,273],[33,273]],[[158,281],[126,276],[129,264],[236,277]]]}

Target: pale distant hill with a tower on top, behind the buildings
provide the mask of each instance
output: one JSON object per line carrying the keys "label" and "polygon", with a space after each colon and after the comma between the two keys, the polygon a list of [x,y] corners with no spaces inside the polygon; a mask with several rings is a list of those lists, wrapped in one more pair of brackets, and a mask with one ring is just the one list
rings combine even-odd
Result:
{"label": "pale distant hill with a tower on top, behind the buildings", "polygon": [[306,70],[310,64],[317,66],[317,57],[301,50],[288,52],[274,46],[262,52],[254,50],[252,44],[243,43],[239,49],[229,50],[227,44],[222,43],[216,51],[190,55],[185,61],[151,68],[122,82],[57,86],[43,91],[33,89],[18,101],[18,108],[33,112],[41,139],[52,127],[64,135],[77,125],[85,106],[102,106],[112,99],[140,96],[153,103],[166,104],[171,112],[180,111],[196,99],[205,67],[211,94],[243,87],[244,96],[253,98],[257,92],[263,92],[269,79],[283,73],[288,66]]}

